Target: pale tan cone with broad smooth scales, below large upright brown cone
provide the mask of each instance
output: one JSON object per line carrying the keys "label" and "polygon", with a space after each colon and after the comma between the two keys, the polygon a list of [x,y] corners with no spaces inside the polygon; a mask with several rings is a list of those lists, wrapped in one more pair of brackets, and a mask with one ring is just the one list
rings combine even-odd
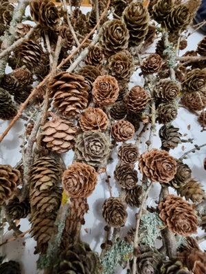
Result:
{"label": "pale tan cone with broad smooth scales, below large upright brown cone", "polygon": [[66,119],[60,119],[52,113],[52,120],[49,120],[42,127],[43,142],[47,148],[57,153],[63,153],[72,149],[78,134],[78,127]]}

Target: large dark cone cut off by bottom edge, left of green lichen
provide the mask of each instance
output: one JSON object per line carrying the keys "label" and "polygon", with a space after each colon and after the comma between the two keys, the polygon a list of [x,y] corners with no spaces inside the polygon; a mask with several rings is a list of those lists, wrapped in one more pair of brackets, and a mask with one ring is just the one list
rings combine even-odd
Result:
{"label": "large dark cone cut off by bottom edge, left of green lichen", "polygon": [[100,261],[86,242],[78,242],[60,253],[55,273],[100,274]]}

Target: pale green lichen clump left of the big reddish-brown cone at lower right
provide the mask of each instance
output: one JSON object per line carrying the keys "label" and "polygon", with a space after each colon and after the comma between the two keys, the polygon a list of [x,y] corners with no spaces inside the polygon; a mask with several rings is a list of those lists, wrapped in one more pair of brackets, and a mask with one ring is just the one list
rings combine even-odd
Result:
{"label": "pale green lichen clump left of the big reddish-brown cone at lower right", "polygon": [[160,227],[163,227],[163,223],[156,212],[142,214],[139,225],[139,238],[141,238],[141,243],[149,247],[155,247],[155,241],[157,237],[161,235]]}

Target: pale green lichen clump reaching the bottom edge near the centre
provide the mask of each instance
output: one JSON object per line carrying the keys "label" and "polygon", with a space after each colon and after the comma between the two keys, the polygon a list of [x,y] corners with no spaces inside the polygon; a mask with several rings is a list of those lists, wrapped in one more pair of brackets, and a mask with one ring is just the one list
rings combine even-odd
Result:
{"label": "pale green lichen clump reaching the bottom edge near the centre", "polygon": [[120,265],[124,267],[128,260],[131,260],[133,256],[133,245],[126,242],[126,240],[117,240],[104,254],[101,259],[103,266],[103,274],[115,273],[116,266]]}

